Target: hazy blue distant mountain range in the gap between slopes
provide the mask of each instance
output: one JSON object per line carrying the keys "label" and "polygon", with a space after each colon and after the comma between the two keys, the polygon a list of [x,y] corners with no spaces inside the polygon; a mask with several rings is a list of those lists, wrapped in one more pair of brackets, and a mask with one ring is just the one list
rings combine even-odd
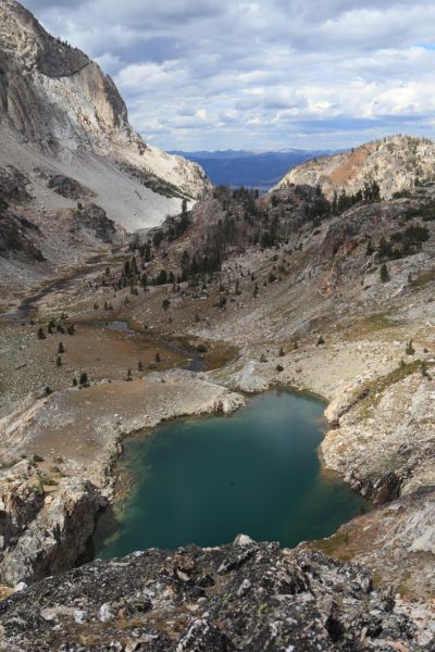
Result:
{"label": "hazy blue distant mountain range in the gap between slopes", "polygon": [[225,150],[171,153],[199,163],[214,186],[245,186],[265,191],[275,186],[296,165],[334,152],[289,149],[275,152]]}

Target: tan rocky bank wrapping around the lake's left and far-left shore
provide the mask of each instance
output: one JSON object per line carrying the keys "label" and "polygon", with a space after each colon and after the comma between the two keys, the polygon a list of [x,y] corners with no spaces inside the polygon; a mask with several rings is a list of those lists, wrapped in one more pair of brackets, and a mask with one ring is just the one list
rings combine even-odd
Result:
{"label": "tan rocky bank wrapping around the lake's left and far-left shore", "polygon": [[[77,411],[82,398],[87,411]],[[244,403],[182,369],[23,402],[0,419],[0,459],[10,466],[0,472],[0,584],[28,584],[75,564],[113,496],[110,469],[124,437],[179,416],[231,414]],[[37,462],[16,463],[23,455]]]}

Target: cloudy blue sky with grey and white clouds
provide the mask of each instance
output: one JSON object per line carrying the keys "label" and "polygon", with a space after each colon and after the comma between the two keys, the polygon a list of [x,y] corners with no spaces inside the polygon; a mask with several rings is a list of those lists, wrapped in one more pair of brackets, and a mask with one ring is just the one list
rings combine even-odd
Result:
{"label": "cloudy blue sky with grey and white clouds", "polygon": [[24,0],[165,149],[435,136],[434,0]]}

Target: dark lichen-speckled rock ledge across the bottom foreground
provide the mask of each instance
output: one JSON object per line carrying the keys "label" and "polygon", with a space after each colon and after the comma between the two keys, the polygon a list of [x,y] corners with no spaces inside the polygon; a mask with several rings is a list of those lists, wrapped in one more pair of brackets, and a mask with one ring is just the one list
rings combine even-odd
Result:
{"label": "dark lichen-speckled rock ledge across the bottom foreground", "polygon": [[8,652],[430,651],[370,575],[239,536],[95,562],[0,603]]}

